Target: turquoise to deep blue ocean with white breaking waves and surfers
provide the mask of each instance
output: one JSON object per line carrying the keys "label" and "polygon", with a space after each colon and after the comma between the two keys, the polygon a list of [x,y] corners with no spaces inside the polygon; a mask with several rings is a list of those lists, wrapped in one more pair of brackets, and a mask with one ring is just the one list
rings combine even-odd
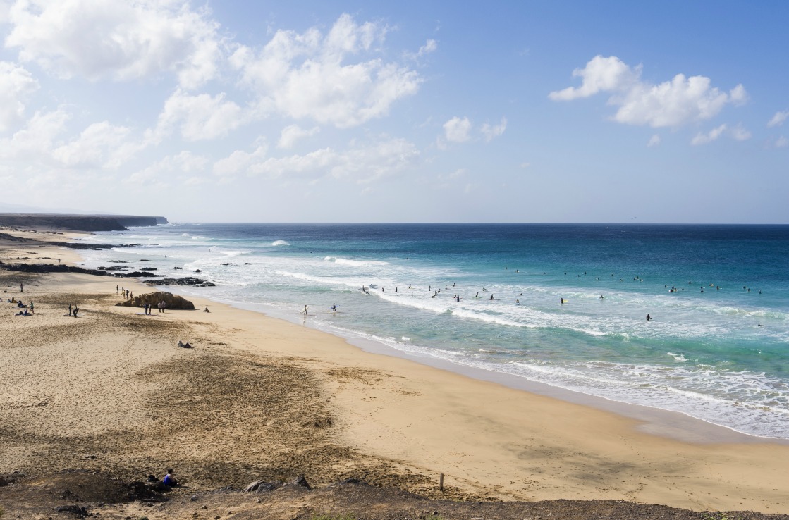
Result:
{"label": "turquoise to deep blue ocean with white breaking waves and surfers", "polygon": [[789,439],[787,225],[181,223],[84,240],[139,244],[84,251],[88,267],[216,284],[171,292]]}

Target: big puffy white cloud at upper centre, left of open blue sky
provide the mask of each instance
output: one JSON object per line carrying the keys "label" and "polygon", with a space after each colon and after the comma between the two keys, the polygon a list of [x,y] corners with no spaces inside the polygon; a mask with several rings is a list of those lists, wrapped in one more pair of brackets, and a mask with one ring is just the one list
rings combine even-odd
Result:
{"label": "big puffy white cloud at upper centre, left of open blue sky", "polygon": [[374,54],[373,43],[382,42],[386,32],[380,24],[357,24],[343,14],[326,35],[316,28],[278,31],[260,51],[240,46],[230,64],[262,112],[350,128],[387,115],[421,84],[417,72],[395,63],[351,59]]}

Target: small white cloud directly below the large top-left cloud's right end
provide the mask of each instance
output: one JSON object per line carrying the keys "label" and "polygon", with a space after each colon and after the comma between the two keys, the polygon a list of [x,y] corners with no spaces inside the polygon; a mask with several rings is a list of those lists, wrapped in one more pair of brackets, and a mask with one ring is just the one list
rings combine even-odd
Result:
{"label": "small white cloud directly below the large top-left cloud's right end", "polygon": [[159,142],[178,126],[181,136],[188,141],[215,139],[244,124],[249,117],[241,107],[225,100],[225,94],[189,95],[175,91],[164,103],[159,122],[149,139]]}

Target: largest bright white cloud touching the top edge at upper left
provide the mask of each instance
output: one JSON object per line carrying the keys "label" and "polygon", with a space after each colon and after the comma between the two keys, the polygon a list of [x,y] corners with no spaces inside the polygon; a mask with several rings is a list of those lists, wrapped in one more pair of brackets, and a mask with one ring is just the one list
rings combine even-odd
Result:
{"label": "largest bright white cloud touching the top edge at upper left", "polygon": [[185,0],[17,0],[6,46],[54,75],[133,80],[162,72],[184,88],[216,74],[219,25]]}

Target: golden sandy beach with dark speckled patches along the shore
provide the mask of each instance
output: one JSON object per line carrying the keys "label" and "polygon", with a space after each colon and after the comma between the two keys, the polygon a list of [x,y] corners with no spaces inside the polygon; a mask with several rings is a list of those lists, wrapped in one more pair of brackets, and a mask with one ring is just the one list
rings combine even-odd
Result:
{"label": "golden sandy beach with dark speckled patches along the shore", "polygon": [[[0,242],[5,263],[58,258],[80,261],[63,247]],[[786,444],[669,435],[686,426],[645,429],[205,299],[189,297],[197,310],[146,316],[115,305],[116,284],[156,290],[128,278],[0,269],[0,474],[143,480],[172,467],[188,493],[303,474],[313,486],[353,477],[433,498],[789,514]],[[12,297],[32,300],[35,314],[14,316]],[[7,498],[0,504],[15,511]]]}

